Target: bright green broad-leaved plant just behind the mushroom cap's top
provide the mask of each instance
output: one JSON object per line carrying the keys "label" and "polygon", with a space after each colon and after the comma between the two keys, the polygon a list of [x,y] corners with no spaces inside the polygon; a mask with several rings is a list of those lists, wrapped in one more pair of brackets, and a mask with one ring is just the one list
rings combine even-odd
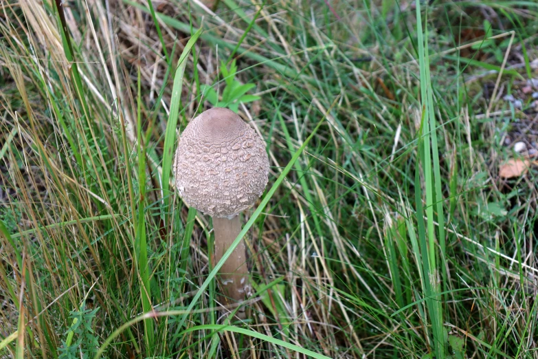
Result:
{"label": "bright green broad-leaved plant just behind the mushroom cap's top", "polygon": [[226,63],[221,61],[221,74],[226,82],[226,87],[223,90],[222,100],[218,100],[218,94],[216,90],[210,85],[202,85],[202,94],[206,100],[211,102],[213,107],[227,107],[232,111],[238,111],[241,102],[252,102],[260,99],[260,96],[247,95],[247,92],[256,87],[253,83],[247,83],[241,85],[241,83],[235,79],[237,73],[236,61],[232,61],[229,69],[226,67]]}

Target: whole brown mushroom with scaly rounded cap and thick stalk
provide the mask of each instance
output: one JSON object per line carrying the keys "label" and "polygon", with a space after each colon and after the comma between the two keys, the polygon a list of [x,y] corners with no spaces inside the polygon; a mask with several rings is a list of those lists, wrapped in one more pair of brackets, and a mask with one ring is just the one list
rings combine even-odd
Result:
{"label": "whole brown mushroom with scaly rounded cap and thick stalk", "polygon": [[[239,213],[250,208],[267,186],[265,142],[229,109],[213,108],[194,118],[181,134],[174,161],[183,201],[213,218],[215,261],[241,231]],[[225,303],[249,295],[245,241],[240,241],[219,272]],[[241,318],[245,314],[239,315]]]}

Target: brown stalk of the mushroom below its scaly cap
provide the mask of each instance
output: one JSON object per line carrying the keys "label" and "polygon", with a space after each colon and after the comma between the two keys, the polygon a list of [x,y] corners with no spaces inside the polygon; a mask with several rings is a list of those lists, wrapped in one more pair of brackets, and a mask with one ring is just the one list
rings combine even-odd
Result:
{"label": "brown stalk of the mushroom below its scaly cap", "polygon": [[[215,233],[215,263],[218,263],[241,232],[239,216],[232,219],[214,217],[213,229]],[[245,296],[250,292],[250,283],[247,250],[243,239],[225,261],[218,274],[223,289],[221,303],[227,305],[244,301]],[[237,316],[245,318],[244,308],[238,310]]]}

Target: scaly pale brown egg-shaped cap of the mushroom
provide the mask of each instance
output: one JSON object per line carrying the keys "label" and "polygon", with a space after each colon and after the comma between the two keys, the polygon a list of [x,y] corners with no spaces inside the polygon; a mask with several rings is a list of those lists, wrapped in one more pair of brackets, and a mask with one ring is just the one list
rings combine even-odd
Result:
{"label": "scaly pale brown egg-shaped cap of the mushroom", "polygon": [[212,217],[234,217],[267,186],[265,142],[234,111],[208,109],[181,134],[174,174],[189,206]]}

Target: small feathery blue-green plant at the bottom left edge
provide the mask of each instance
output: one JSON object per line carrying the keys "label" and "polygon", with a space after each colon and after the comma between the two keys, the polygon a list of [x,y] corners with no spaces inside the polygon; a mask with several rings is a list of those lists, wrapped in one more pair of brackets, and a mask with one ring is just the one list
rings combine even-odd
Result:
{"label": "small feathery blue-green plant at the bottom left edge", "polygon": [[[85,303],[82,303],[80,310],[71,311],[69,318],[73,320],[66,333],[67,340],[62,340],[62,346],[58,349],[59,359],[87,359],[96,355],[99,341],[91,328],[91,323],[98,310],[99,308],[85,309]],[[71,344],[73,338],[76,342]]]}

